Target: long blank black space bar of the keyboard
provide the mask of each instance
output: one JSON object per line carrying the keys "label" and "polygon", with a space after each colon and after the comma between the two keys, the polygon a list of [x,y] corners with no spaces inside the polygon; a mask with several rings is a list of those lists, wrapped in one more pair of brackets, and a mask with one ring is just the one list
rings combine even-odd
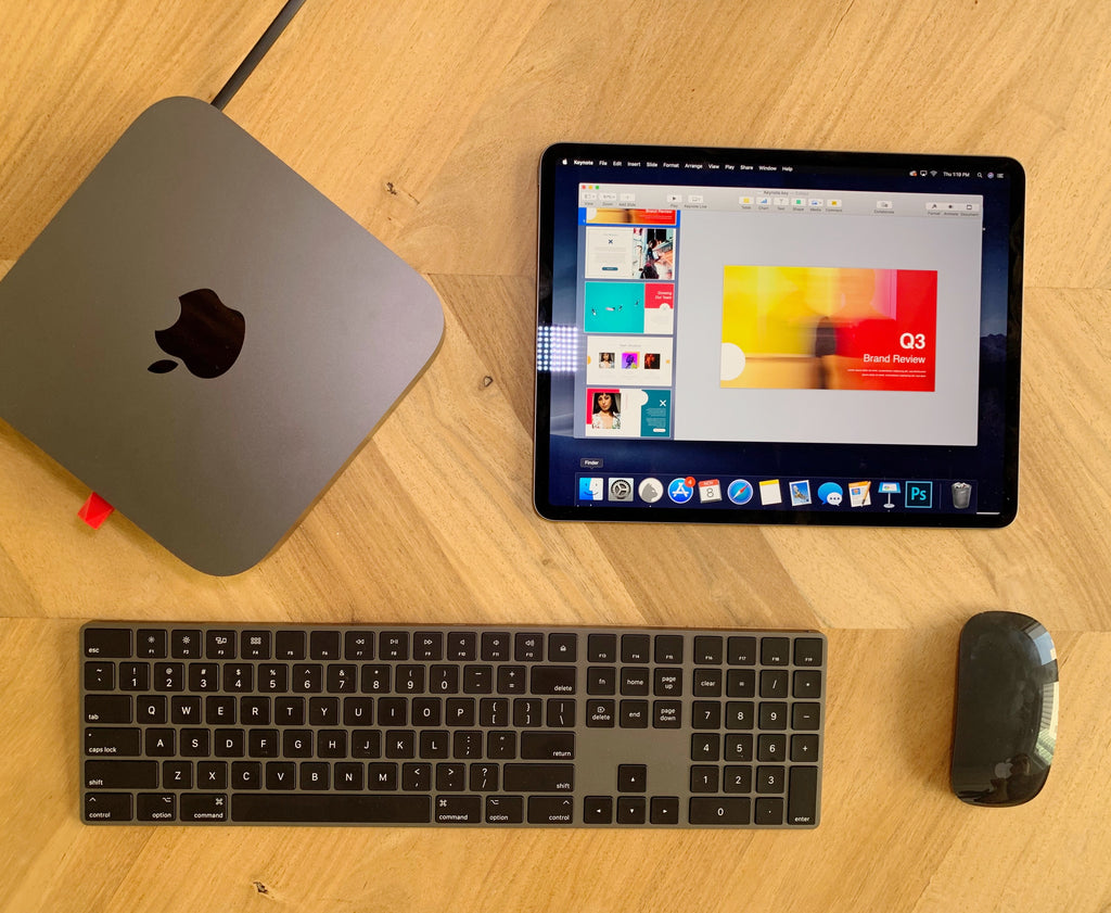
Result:
{"label": "long blank black space bar of the keyboard", "polygon": [[234,793],[231,820],[286,824],[428,824],[427,795],[277,795]]}

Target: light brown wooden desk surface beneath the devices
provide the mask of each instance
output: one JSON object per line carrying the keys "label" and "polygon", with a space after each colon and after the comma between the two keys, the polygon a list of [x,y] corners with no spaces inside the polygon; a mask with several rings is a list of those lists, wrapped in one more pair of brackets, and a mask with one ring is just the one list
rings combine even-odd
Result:
{"label": "light brown wooden desk surface beneath the devices", "polygon": [[[280,6],[6,3],[0,261],[147,105],[211,98]],[[229,579],[123,517],[84,527],[80,483],[0,426],[0,911],[1105,910],[1109,31],[1098,0],[309,0],[228,113],[429,276],[443,348],[289,540]],[[1018,520],[538,519],[536,168],[564,139],[1021,160]],[[985,608],[1038,616],[1060,654],[1057,762],[1013,810],[948,792],[957,634]],[[823,822],[86,827],[76,632],[94,617],[817,626],[830,637]]]}

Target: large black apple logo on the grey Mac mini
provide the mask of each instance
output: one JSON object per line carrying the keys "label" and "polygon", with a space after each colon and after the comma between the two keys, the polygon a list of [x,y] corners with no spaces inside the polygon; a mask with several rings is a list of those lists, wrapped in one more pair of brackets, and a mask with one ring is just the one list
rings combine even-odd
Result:
{"label": "large black apple logo on the grey Mac mini", "polygon": [[[239,358],[247,320],[210,288],[187,291],[178,300],[181,315],[172,327],[154,330],[154,341],[167,355],[184,361],[197,377],[219,377]],[[177,361],[163,358],[147,370],[167,374],[176,367]]]}

